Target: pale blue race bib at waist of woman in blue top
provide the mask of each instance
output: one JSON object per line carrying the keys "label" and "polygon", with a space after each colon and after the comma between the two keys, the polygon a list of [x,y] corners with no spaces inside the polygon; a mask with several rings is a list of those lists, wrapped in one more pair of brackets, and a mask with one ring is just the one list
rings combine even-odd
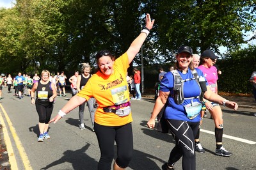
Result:
{"label": "pale blue race bib at waist of woman in blue top", "polygon": [[198,116],[198,114],[200,114],[202,104],[198,102],[193,102],[193,100],[191,100],[191,104],[184,105],[184,107],[189,120],[193,120],[194,118],[196,118],[196,116]]}

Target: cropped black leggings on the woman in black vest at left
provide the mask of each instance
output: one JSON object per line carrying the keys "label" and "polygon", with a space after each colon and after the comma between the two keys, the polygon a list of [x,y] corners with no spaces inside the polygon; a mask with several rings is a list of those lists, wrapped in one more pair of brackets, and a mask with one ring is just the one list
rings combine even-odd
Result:
{"label": "cropped black leggings on the woman in black vest at left", "polygon": [[36,104],[36,111],[39,116],[39,123],[48,124],[52,116],[53,105],[50,103],[47,106]]}

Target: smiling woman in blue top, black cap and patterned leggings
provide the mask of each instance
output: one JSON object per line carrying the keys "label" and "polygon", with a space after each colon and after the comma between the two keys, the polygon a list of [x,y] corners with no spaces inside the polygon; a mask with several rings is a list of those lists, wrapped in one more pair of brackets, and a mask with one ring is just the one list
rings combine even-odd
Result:
{"label": "smiling woman in blue top, black cap and patterned leggings", "polygon": [[[168,162],[162,166],[162,169],[174,169],[173,165],[182,156],[182,169],[196,169],[194,139],[200,121],[200,107],[202,105],[199,100],[201,93],[200,85],[193,79],[192,54],[193,50],[191,47],[181,46],[176,56],[175,70],[177,70],[182,80],[186,80],[182,90],[184,101],[176,104],[177,102],[175,102],[174,97],[176,93],[173,91],[175,77],[172,72],[166,73],[161,81],[159,97],[157,97],[152,115],[147,123],[149,128],[154,128],[155,118],[166,104],[164,117],[167,120],[176,145],[170,153]],[[198,76],[204,77],[199,69],[195,68],[195,70]],[[208,84],[206,83],[206,85]],[[238,107],[235,102],[230,102],[216,93],[212,93],[208,86],[207,91],[204,93],[204,98],[235,110]]]}

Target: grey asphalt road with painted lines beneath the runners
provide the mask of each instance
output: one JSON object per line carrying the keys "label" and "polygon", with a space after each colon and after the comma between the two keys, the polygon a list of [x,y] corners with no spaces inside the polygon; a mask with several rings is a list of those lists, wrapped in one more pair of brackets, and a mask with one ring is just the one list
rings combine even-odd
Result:
{"label": "grey asphalt road with painted lines beneath the runners", "polygon": [[[0,117],[6,129],[4,141],[12,169],[97,169],[100,151],[87,107],[84,113],[86,130],[78,127],[76,108],[58,123],[50,125],[51,139],[38,143],[38,115],[35,105],[30,104],[30,98],[19,100],[13,97],[13,93],[6,93],[5,89],[2,97]],[[64,97],[56,98],[52,117],[65,103]],[[175,144],[172,135],[147,128],[153,107],[154,100],[150,98],[132,100],[134,154],[127,169],[161,169]],[[206,152],[196,153],[196,169],[256,169],[256,117],[252,116],[255,109],[232,111],[223,108],[223,112],[223,146],[233,155],[221,157],[214,154],[214,123],[205,118],[200,141]],[[181,160],[175,164],[175,169],[182,169]]]}

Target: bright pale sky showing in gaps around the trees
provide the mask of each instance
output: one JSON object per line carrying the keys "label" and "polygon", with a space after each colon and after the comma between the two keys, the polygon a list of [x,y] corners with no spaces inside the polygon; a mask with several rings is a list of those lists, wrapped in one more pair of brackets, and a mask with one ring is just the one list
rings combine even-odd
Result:
{"label": "bright pale sky showing in gaps around the trees", "polygon": [[[0,0],[0,8],[11,8],[13,3],[15,3],[15,0]],[[248,40],[250,37],[252,37],[253,33],[246,33],[246,37],[244,37],[244,40]],[[248,42],[250,45],[256,45],[256,40]],[[248,45],[243,45],[243,47],[248,47]],[[227,52],[227,48],[225,47],[220,47],[220,52],[225,53]]]}

